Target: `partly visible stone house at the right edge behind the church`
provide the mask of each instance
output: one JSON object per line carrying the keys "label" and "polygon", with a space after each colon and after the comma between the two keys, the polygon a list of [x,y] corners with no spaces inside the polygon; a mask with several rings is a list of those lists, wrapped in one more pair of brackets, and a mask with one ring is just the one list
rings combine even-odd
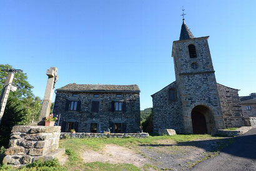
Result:
{"label": "partly visible stone house at the right edge behind the church", "polygon": [[240,97],[244,117],[256,117],[256,93]]}

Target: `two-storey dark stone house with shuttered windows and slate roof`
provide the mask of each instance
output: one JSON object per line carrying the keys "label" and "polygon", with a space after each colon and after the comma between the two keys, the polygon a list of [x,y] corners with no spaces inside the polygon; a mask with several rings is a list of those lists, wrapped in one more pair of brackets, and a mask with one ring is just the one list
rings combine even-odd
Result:
{"label": "two-storey dark stone house with shuttered windows and slate roof", "polygon": [[53,113],[62,132],[139,132],[138,85],[67,84],[56,90]]}

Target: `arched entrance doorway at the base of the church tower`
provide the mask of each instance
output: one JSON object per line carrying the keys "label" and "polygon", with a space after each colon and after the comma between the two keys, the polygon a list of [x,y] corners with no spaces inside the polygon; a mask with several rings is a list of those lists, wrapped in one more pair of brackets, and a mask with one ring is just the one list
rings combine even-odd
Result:
{"label": "arched entrance doorway at the base of the church tower", "polygon": [[191,112],[194,134],[210,134],[214,129],[214,115],[205,105],[197,105]]}

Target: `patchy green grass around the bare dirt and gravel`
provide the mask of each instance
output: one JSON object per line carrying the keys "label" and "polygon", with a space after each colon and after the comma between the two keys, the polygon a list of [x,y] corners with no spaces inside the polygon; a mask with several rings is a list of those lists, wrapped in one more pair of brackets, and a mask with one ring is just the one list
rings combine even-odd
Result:
{"label": "patchy green grass around the bare dirt and gravel", "polygon": [[[102,162],[91,162],[91,163],[84,163],[81,154],[87,149],[91,150],[101,150],[107,144],[115,144],[120,145],[123,147],[128,147],[129,149],[137,149],[138,154],[142,154],[139,151],[140,145],[149,145],[149,149],[154,148],[150,147],[150,145],[159,144],[160,140],[169,140],[170,142],[190,142],[194,140],[214,140],[214,139],[221,139],[222,137],[212,137],[211,135],[174,135],[174,136],[150,136],[144,139],[137,139],[137,138],[88,138],[88,139],[62,139],[60,140],[60,148],[66,149],[66,154],[68,155],[68,160],[64,166],[58,164],[58,162],[54,162],[51,164],[36,164],[30,165],[30,167],[23,167],[22,169],[14,169],[7,166],[0,165],[0,171],[2,170],[140,170],[138,167],[132,164],[109,164],[109,163],[102,163]],[[222,145],[220,145],[222,147]],[[169,148],[169,147],[168,147]],[[172,148],[177,149],[174,145]],[[209,154],[210,156],[206,156],[205,159],[209,157],[213,157],[217,155],[216,151]],[[146,156],[144,156],[146,157]],[[202,159],[202,160],[205,160]],[[201,162],[201,161],[198,161]],[[197,163],[198,163],[197,162]],[[197,164],[196,163],[196,164]],[[50,166],[51,165],[51,166]],[[195,165],[195,164],[192,164]],[[143,170],[159,170],[155,165],[145,164],[142,168]],[[170,170],[168,168],[167,170]]]}

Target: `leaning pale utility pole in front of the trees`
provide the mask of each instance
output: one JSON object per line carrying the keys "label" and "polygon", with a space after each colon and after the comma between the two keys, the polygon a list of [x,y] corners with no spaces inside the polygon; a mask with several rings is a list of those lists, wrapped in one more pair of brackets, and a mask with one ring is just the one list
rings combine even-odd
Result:
{"label": "leaning pale utility pole in front of the trees", "polygon": [[11,91],[16,91],[17,87],[12,85],[12,81],[14,79],[14,73],[19,72],[22,70],[21,69],[2,69],[1,71],[6,71],[9,72],[6,83],[4,84],[4,88],[2,89],[2,94],[1,94],[1,104],[0,104],[0,125],[2,121],[2,115],[4,115],[4,109],[6,108],[6,102],[9,96],[9,92]]}

